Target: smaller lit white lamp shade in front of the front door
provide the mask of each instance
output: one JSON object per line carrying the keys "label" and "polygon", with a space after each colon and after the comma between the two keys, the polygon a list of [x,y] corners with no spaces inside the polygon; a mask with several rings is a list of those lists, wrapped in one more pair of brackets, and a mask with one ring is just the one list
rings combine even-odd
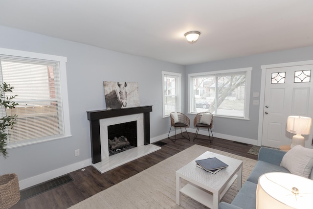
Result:
{"label": "smaller lit white lamp shade in front of the front door", "polygon": [[288,116],[286,130],[293,134],[310,134],[312,118],[304,116]]}

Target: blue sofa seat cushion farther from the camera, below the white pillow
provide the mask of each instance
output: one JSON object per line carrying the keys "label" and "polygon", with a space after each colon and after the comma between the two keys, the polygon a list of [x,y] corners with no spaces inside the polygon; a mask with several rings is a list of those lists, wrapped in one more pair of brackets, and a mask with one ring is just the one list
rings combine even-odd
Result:
{"label": "blue sofa seat cushion farther from the camera, below the white pillow", "polygon": [[290,173],[286,168],[281,167],[279,165],[274,165],[271,163],[267,163],[264,161],[258,161],[253,168],[250,176],[248,177],[247,181],[253,182],[254,184],[258,184],[259,177],[262,174],[269,173],[269,172],[284,172]]}

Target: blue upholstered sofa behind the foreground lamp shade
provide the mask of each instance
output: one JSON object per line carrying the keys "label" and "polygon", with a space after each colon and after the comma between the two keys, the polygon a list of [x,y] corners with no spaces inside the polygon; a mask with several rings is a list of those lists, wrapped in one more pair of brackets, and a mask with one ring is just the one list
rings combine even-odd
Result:
{"label": "blue upholstered sofa behind the foreground lamp shade", "polygon": [[[256,186],[259,177],[268,172],[290,173],[286,168],[279,166],[285,154],[285,151],[261,147],[258,155],[258,162],[244,186],[239,190],[231,204],[221,202],[219,204],[219,209],[255,209]],[[313,169],[310,177],[313,179]]]}

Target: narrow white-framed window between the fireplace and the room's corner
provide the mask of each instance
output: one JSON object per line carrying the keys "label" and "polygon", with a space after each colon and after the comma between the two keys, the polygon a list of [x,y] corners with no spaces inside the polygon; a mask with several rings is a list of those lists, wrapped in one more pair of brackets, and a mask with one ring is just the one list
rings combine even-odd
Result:
{"label": "narrow white-framed window between the fireplace and the room's corner", "polygon": [[180,112],[180,73],[162,71],[163,117]]}

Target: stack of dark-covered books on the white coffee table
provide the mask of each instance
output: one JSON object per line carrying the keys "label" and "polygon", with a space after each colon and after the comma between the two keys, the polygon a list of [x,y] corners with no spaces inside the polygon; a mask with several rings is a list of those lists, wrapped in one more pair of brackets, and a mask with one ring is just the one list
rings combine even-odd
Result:
{"label": "stack of dark-covered books on the white coffee table", "polygon": [[217,158],[207,158],[203,160],[198,160],[196,161],[196,166],[213,174],[216,174],[223,168],[228,167],[226,163],[220,161]]}

